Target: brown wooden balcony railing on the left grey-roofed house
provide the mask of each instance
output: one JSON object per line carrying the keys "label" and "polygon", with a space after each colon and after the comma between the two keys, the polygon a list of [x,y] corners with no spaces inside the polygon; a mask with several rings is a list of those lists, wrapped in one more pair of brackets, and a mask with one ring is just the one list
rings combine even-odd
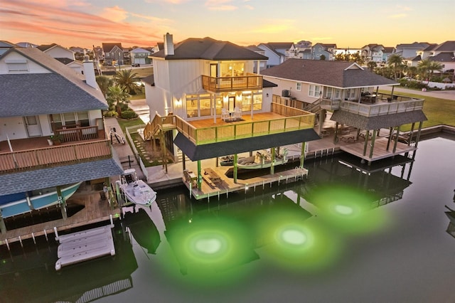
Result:
{"label": "brown wooden balcony railing on the left grey-roofed house", "polygon": [[12,151],[0,154],[0,174],[111,157],[109,140]]}

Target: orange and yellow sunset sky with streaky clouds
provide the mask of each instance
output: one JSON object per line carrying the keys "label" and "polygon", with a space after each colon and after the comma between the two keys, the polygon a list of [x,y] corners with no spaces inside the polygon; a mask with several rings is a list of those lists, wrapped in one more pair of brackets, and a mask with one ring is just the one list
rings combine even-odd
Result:
{"label": "orange and yellow sunset sky with streaky clouds", "polygon": [[91,48],[211,37],[266,42],[442,43],[455,40],[454,0],[0,0],[0,40]]}

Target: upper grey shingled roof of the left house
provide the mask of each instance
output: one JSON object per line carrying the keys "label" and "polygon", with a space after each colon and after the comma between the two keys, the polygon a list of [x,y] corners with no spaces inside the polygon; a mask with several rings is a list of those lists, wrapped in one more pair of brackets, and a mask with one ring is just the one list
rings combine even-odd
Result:
{"label": "upper grey shingled roof of the left house", "polygon": [[0,74],[2,104],[0,117],[57,114],[105,110],[107,102],[100,90],[85,83],[85,77],[36,48],[11,48],[50,73]]}

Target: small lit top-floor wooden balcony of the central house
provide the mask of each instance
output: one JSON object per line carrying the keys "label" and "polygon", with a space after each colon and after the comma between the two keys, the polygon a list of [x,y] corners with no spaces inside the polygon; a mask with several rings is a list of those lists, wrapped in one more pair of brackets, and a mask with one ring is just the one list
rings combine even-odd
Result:
{"label": "small lit top-floor wooden balcony of the central house", "polygon": [[232,92],[235,90],[262,90],[262,75],[247,74],[238,77],[210,77],[202,75],[204,90]]}

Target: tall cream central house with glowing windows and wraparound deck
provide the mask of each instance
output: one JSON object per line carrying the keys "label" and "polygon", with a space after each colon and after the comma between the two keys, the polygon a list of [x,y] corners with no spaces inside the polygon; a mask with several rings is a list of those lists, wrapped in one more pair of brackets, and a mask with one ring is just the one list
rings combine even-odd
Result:
{"label": "tall cream central house with glowing windows and wraparound deck", "polygon": [[[151,113],[144,136],[159,139],[163,154],[200,161],[319,139],[314,114],[272,102],[274,83],[253,71],[264,55],[208,37],[164,39],[144,80]],[[200,187],[200,165],[197,176]]]}

